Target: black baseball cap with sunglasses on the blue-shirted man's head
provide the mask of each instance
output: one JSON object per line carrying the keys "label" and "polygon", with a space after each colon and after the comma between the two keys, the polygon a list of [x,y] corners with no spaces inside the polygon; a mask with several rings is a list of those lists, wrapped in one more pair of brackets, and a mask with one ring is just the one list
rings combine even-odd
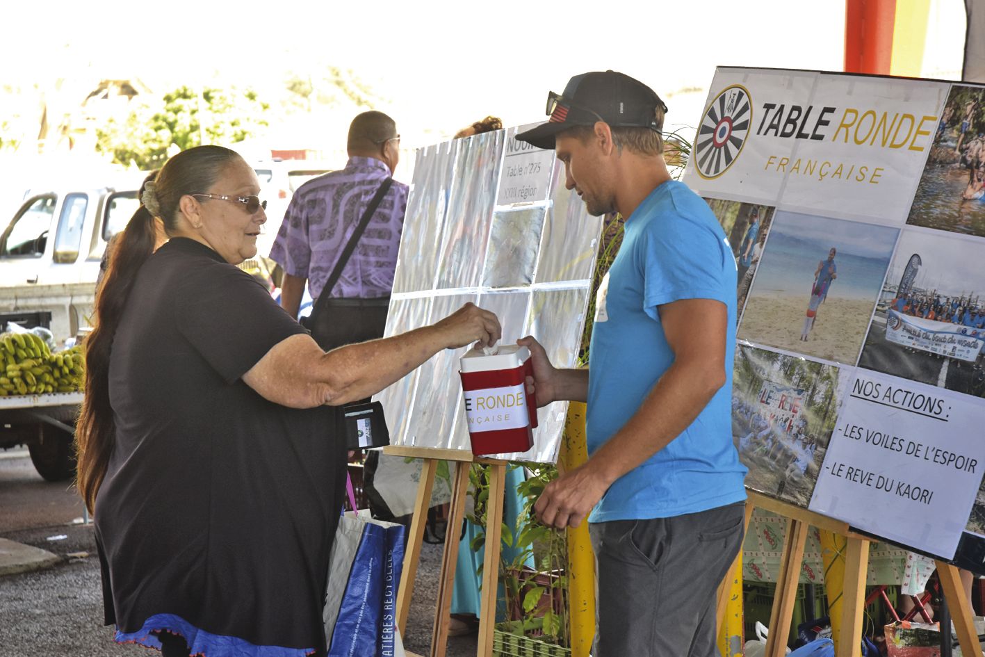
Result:
{"label": "black baseball cap with sunglasses on the blue-shirted man's head", "polygon": [[567,81],[564,93],[548,95],[547,123],[521,132],[517,139],[540,149],[554,149],[555,136],[575,125],[595,125],[604,121],[612,127],[663,129],[656,111],[665,113],[667,105],[652,89],[616,71],[593,71]]}

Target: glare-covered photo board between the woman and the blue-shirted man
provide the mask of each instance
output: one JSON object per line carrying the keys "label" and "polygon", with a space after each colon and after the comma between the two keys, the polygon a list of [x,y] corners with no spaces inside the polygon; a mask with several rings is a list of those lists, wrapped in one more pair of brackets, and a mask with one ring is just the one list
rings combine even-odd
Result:
{"label": "glare-covered photo board between the woman and the blue-shirted man", "polygon": [[[418,150],[386,336],[471,301],[499,318],[499,344],[532,335],[557,366],[576,365],[602,221],[565,189],[554,151],[516,140],[529,127]],[[378,396],[391,444],[471,449],[466,351],[443,351]],[[566,413],[566,402],[540,409],[529,451],[490,456],[554,463]]]}

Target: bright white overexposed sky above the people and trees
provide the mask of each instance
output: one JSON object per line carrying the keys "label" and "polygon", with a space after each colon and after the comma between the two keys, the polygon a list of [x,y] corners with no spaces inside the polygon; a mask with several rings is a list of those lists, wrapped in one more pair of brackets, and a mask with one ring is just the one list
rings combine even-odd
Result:
{"label": "bright white overexposed sky above the people and trees", "polygon": [[[959,69],[963,2],[931,1],[925,69],[940,75]],[[0,83],[138,77],[155,91],[220,84],[262,94],[287,71],[334,65],[386,99],[377,108],[412,148],[487,114],[506,125],[544,120],[548,92],[589,70],[648,84],[673,129],[696,124],[717,65],[843,65],[841,0],[7,4],[5,24],[24,27],[0,39]],[[343,144],[346,127],[324,125],[318,139]]]}

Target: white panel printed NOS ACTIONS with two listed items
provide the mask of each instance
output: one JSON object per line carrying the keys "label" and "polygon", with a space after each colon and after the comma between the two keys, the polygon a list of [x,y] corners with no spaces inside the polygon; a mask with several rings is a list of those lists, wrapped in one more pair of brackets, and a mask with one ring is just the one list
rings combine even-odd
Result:
{"label": "white panel printed NOS ACTIONS with two listed items", "polygon": [[951,558],[985,468],[983,412],[981,400],[860,371],[811,509]]}

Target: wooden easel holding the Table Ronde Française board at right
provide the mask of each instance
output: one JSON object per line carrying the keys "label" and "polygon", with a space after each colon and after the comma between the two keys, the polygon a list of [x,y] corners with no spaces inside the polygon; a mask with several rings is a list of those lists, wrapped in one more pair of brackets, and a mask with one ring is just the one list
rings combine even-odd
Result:
{"label": "wooden easel holding the Table Ronde Fran\u00e7aise board at right", "polygon": [[[865,612],[866,571],[869,566],[871,539],[850,531],[847,523],[752,491],[749,492],[749,499],[746,502],[747,531],[753,517],[753,509],[756,506],[781,515],[789,521],[783,542],[780,571],[776,579],[776,593],[769,615],[769,636],[766,640],[764,656],[782,657],[785,652],[785,637],[793,621],[797,584],[800,579],[801,563],[804,561],[804,546],[807,542],[808,529],[812,525],[847,538],[841,630],[838,644],[834,646],[834,653],[838,657],[857,657],[860,655],[862,617]],[[730,582],[735,576],[737,569],[741,567],[741,558],[742,555],[736,558],[725,582]],[[980,655],[981,646],[974,630],[971,607],[961,587],[957,568],[951,563],[939,560],[937,561],[937,571],[941,578],[944,594],[952,609],[952,619],[961,645],[961,654]],[[723,585],[718,592],[717,618],[719,626],[725,618],[725,607],[728,602],[724,594],[725,590],[727,587]]]}

